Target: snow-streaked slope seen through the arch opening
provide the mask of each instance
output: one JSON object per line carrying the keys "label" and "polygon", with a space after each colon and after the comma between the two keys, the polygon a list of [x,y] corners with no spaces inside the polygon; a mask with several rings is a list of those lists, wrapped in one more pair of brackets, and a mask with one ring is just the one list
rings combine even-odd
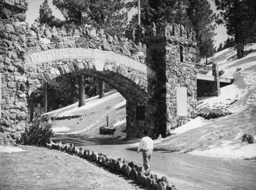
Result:
{"label": "snow-streaked slope seen through the arch opening", "polygon": [[[87,99],[86,105],[78,108],[78,103],[48,112],[44,115],[54,117],[52,120],[55,134],[73,134],[88,137],[109,137],[99,135],[99,128],[106,127],[106,117],[109,117],[109,127],[116,128],[113,138],[125,138],[122,130],[126,126],[126,100],[119,92],[113,90],[105,93],[105,97],[98,96]],[[65,117],[69,117],[64,119]],[[77,117],[77,118],[72,118]]]}

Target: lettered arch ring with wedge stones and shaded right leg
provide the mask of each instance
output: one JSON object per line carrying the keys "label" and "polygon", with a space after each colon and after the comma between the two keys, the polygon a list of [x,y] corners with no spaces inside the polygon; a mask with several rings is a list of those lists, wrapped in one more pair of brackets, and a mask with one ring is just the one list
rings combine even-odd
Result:
{"label": "lettered arch ring with wedge stones and shaded right leg", "polygon": [[30,94],[48,81],[68,73],[89,74],[117,89],[126,99],[126,129],[129,137],[140,136],[143,120],[137,120],[136,107],[146,106],[147,80],[156,80],[156,73],[136,60],[109,51],[67,48],[35,52],[25,57],[25,76]]}

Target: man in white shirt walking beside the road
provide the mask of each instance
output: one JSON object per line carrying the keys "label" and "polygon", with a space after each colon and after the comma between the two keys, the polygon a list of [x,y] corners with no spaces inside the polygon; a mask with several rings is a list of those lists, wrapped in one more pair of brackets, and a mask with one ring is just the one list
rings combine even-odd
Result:
{"label": "man in white shirt walking beside the road", "polygon": [[142,149],[143,156],[143,165],[145,171],[150,171],[150,158],[152,156],[152,151],[154,149],[154,144],[152,138],[148,137],[148,131],[145,129],[143,131],[143,138],[140,140],[140,145],[137,150],[137,154],[139,154]]}

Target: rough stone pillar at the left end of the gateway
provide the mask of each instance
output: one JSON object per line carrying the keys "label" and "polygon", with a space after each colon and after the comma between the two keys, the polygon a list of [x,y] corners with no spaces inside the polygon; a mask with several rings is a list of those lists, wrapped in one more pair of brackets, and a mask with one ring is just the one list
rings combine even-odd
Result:
{"label": "rough stone pillar at the left end of the gateway", "polygon": [[[24,56],[27,33],[25,0],[0,1],[1,121],[0,145],[14,142],[26,125],[27,98]],[[14,141],[11,140],[14,138]],[[8,140],[9,139],[9,140]]]}

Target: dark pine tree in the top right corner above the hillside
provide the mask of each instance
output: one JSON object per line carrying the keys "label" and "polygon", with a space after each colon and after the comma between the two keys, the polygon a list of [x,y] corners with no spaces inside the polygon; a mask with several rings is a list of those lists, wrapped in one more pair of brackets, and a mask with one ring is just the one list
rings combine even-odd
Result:
{"label": "dark pine tree in the top right corner above the hillside", "polygon": [[[255,40],[256,1],[254,0],[215,0],[221,13],[218,23],[224,23],[227,34],[234,38],[238,59],[244,54],[245,42]],[[253,39],[252,39],[253,38]]]}

